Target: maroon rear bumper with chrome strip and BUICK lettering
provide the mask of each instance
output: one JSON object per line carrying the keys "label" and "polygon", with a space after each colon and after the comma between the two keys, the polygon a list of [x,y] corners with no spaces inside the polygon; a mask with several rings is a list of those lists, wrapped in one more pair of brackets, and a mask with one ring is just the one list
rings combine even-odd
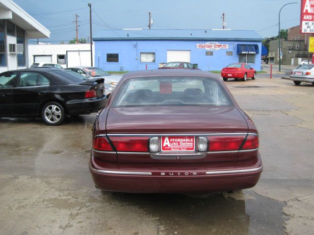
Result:
{"label": "maroon rear bumper with chrome strip and BUICK lettering", "polygon": [[[241,167],[235,162],[233,167],[210,169],[208,166],[184,169],[163,167],[120,168],[119,164],[98,165],[98,159],[93,155],[89,169],[97,188],[107,191],[137,192],[137,193],[185,193],[228,191],[254,187],[262,173],[260,155],[252,165]],[[104,162],[103,162],[104,163]],[[104,166],[104,164],[102,164]],[[134,164],[133,164],[134,165]],[[208,168],[206,168],[208,167]]]}

